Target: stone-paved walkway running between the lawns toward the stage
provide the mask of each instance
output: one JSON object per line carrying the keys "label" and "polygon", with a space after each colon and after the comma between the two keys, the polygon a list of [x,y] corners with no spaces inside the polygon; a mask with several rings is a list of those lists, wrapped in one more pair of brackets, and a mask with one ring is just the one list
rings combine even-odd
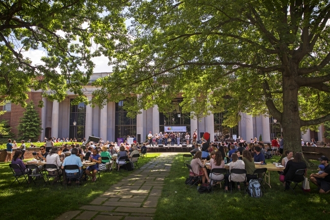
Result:
{"label": "stone-paved walkway running between the lawns toward the stage", "polygon": [[[163,187],[164,178],[169,175],[172,160],[176,153],[161,153],[148,164],[135,170],[108,191],[94,199],[81,210],[68,211],[57,220],[149,220],[152,219]],[[120,172],[126,172],[124,170]]]}

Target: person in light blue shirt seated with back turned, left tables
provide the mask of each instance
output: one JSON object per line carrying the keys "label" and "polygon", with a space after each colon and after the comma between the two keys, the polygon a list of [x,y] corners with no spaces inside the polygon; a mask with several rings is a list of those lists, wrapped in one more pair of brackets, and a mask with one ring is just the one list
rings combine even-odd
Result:
{"label": "person in light blue shirt seated with back turned, left tables", "polygon": [[[71,155],[67,156],[62,164],[62,169],[64,169],[65,165],[77,165],[79,167],[79,169],[77,170],[65,170],[65,176],[67,178],[68,184],[71,184],[71,180],[72,179],[76,179],[77,177],[80,176],[80,178],[82,177],[82,163],[81,163],[81,159],[78,155],[78,149],[77,148],[73,148],[71,150]],[[76,183],[79,183],[79,180],[76,180]]]}

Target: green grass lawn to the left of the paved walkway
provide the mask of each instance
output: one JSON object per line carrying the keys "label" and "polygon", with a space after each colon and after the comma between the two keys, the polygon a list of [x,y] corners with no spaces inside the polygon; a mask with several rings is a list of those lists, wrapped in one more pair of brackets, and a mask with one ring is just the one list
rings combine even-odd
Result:
{"label": "green grass lawn to the left of the paved walkway", "polygon": [[[147,158],[139,159],[139,166],[159,156],[160,153],[148,153]],[[123,177],[130,174],[125,170],[120,172],[102,172],[101,180],[95,183],[88,180],[82,186],[74,183],[72,186],[30,184],[26,188],[14,183],[9,163],[0,163],[0,213],[1,219],[55,219],[68,210],[76,210],[87,205],[94,198],[108,190]]]}

